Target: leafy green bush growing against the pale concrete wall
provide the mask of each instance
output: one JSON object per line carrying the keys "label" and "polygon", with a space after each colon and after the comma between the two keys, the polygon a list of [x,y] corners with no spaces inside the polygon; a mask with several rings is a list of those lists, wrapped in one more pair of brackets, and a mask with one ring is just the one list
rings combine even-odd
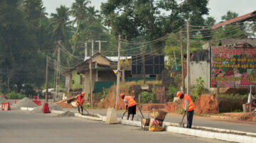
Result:
{"label": "leafy green bush growing against the pale concrete wall", "polygon": [[200,76],[198,79],[196,79],[196,87],[192,89],[191,98],[193,101],[196,101],[198,96],[201,95],[201,93],[203,93],[203,89],[204,89],[204,81]]}

